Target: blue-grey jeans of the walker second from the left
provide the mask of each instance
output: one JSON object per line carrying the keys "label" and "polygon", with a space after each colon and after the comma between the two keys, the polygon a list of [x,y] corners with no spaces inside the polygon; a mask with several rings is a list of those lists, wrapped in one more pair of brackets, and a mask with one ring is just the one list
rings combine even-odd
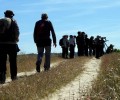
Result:
{"label": "blue-grey jeans of the walker second from the left", "polygon": [[42,63],[43,53],[45,50],[45,62],[44,62],[44,70],[49,70],[50,68],[50,55],[51,55],[51,46],[37,47],[38,55],[36,62],[36,70],[40,71],[40,65]]}

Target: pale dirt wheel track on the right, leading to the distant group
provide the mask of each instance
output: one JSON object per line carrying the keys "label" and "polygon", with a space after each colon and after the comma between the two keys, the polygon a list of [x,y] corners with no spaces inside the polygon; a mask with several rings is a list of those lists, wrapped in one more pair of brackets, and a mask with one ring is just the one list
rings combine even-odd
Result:
{"label": "pale dirt wheel track on the right, leading to the distant group", "polygon": [[92,58],[84,65],[85,70],[82,74],[43,100],[84,100],[85,96],[89,94],[92,82],[98,75],[100,63],[100,59]]}

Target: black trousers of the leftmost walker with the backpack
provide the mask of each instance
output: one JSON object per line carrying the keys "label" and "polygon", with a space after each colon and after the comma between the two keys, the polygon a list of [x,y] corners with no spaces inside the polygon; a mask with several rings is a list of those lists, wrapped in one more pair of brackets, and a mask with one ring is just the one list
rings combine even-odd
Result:
{"label": "black trousers of the leftmost walker with the backpack", "polygon": [[7,57],[10,62],[11,79],[17,76],[17,44],[0,44],[0,81],[5,81]]}

